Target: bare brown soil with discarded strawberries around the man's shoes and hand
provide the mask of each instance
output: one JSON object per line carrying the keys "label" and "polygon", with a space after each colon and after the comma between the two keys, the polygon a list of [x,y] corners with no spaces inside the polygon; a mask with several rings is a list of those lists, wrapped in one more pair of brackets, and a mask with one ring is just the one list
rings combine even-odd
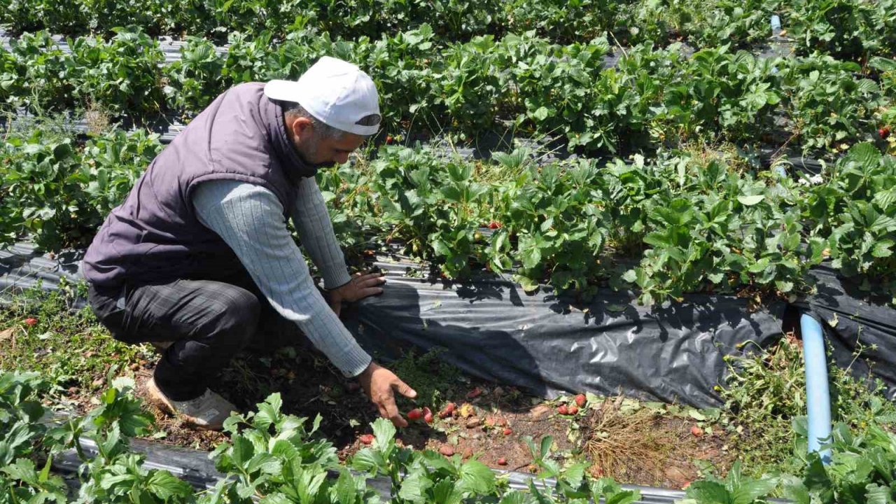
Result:
{"label": "bare brown soil with discarded strawberries around the man's shoes and hand", "polygon": [[[413,366],[420,360],[409,362]],[[707,422],[694,421],[686,414],[670,413],[678,411],[676,406],[648,406],[625,397],[591,395],[578,413],[560,414],[558,405],[574,404],[572,397],[546,401],[513,387],[434,371],[432,362],[423,364],[425,369],[418,371],[433,377],[432,383],[418,387],[413,370],[406,369],[404,374],[412,375],[406,381],[420,394],[415,404],[402,400],[400,406],[404,413],[415,406],[428,406],[434,420],[431,424],[422,419],[411,421],[409,427],[399,430],[397,437],[404,446],[464,459],[477,457],[495,469],[530,472],[534,467],[524,439],[538,442],[551,436],[554,456],[584,458],[594,476],[672,489],[686,487],[707,464],[725,471],[733,460],[724,430],[712,429]],[[156,431],[149,439],[202,450],[225,441],[226,435],[191,430],[145,401],[144,384],[153,367],[152,361],[142,361],[130,369],[138,395],[156,417]],[[264,397],[279,392],[286,413],[309,420],[322,415],[320,432],[332,440],[342,458],[362,448],[358,437],[371,431],[369,423],[377,416],[358,384],[343,378],[320,356],[296,352],[243,356],[224,371],[220,382],[215,388],[242,411],[251,411]],[[70,399],[82,409],[90,409],[88,397]],[[448,403],[455,404],[455,410],[441,418],[439,413]]]}

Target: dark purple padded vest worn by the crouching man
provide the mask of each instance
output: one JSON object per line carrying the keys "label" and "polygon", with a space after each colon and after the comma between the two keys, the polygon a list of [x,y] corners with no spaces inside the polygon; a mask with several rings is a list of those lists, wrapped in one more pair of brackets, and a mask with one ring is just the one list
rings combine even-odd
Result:
{"label": "dark purple padded vest worn by the crouching man", "polygon": [[220,237],[202,225],[191,196],[206,180],[240,180],[271,190],[284,220],[300,178],[316,169],[289,142],[280,105],[263,83],[221,94],[159,153],[125,203],[109,213],[82,263],[100,287],[210,278],[241,267]]}

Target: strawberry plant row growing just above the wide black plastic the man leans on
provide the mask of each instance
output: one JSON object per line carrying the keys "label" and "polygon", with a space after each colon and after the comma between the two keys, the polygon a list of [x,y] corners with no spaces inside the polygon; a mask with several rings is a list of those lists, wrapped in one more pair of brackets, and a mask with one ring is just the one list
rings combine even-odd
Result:
{"label": "strawberry plant row growing just above the wide black plastic the man leans on", "polygon": [[[82,146],[41,129],[10,135],[0,145],[0,242],[86,245],[160,148],[141,132]],[[864,289],[896,293],[896,158],[870,143],[812,177],[704,148],[630,164],[538,166],[530,154],[461,161],[383,145],[319,183],[346,248],[398,241],[451,278],[513,270],[527,289],[585,293],[610,282],[645,303],[693,291],[788,297],[830,258]]]}

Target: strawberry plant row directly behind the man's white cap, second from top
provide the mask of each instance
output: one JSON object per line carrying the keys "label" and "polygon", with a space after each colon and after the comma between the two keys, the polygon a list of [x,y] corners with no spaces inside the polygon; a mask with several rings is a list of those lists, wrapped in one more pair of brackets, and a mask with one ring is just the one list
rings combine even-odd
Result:
{"label": "strawberry plant row directly behind the man's white cap, second from top", "polygon": [[208,39],[188,39],[181,59],[164,65],[158,42],[139,30],[69,39],[70,51],[47,32],[25,34],[0,51],[0,101],[36,113],[192,117],[236,83],[296,79],[331,55],[372,75],[392,135],[513,130],[559,135],[589,153],[701,140],[788,143],[821,155],[879,141],[896,123],[896,61],[881,57],[863,69],[831,56],[642,45],[617,49],[607,67],[606,39],[560,45],[525,33],[441,44],[426,24],[376,41],[298,30],[280,43],[270,33],[231,33],[229,42],[220,53]]}

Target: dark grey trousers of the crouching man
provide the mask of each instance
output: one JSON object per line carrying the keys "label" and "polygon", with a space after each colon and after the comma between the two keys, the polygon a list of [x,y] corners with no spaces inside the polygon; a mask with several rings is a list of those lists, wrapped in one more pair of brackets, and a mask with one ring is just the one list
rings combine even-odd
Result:
{"label": "dark grey trousers of the crouching man", "polygon": [[281,317],[246,270],[216,279],[126,285],[90,285],[90,308],[125,343],[174,342],[155,369],[156,385],[175,401],[205,391],[241,349],[286,344],[311,348],[296,324]]}

